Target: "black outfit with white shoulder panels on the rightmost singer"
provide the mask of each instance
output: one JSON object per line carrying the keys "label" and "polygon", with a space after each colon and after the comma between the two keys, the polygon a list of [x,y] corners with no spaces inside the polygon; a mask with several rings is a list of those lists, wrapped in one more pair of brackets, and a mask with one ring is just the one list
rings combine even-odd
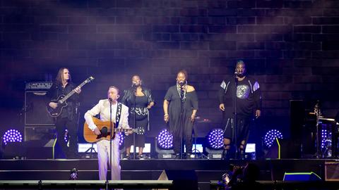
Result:
{"label": "black outfit with white shoulder panels on the rightmost singer", "polygon": [[[232,125],[234,118],[235,79],[223,80],[220,84],[219,103],[224,103],[222,125],[225,127],[224,138],[233,139]],[[249,124],[255,110],[261,110],[261,92],[258,82],[246,76],[237,84],[237,144],[247,141]]]}

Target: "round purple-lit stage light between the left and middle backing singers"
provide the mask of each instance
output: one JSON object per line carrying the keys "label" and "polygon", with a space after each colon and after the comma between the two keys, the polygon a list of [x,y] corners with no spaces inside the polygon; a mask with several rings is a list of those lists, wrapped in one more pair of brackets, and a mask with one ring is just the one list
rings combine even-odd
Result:
{"label": "round purple-lit stage light between the left and middle backing singers", "polygon": [[173,135],[167,129],[162,129],[155,137],[155,144],[157,158],[174,158]]}

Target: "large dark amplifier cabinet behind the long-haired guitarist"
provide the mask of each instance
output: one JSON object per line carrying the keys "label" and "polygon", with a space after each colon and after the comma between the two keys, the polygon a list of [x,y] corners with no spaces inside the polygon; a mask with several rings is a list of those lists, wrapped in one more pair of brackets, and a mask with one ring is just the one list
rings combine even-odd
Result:
{"label": "large dark amplifier cabinet behind the long-haired guitarist", "polygon": [[54,125],[47,113],[47,91],[25,91],[25,125]]}

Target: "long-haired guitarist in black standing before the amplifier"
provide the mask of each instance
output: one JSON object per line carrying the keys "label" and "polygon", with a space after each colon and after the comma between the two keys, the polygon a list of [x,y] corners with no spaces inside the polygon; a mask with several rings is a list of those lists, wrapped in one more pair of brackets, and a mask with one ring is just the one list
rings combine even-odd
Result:
{"label": "long-haired guitarist in black standing before the amplifier", "polygon": [[[76,94],[68,99],[66,106],[61,110],[59,117],[57,117],[55,121],[57,142],[61,146],[62,151],[64,151],[66,158],[78,158],[78,115],[76,112],[81,89],[76,88],[76,85],[71,82],[69,69],[60,68],[56,81],[49,91],[47,91],[47,97],[49,97],[50,100],[48,106],[57,109],[59,105],[53,100],[58,99],[64,94],[69,94],[73,90]],[[65,129],[67,129],[67,134],[69,135],[69,147],[64,140]]]}

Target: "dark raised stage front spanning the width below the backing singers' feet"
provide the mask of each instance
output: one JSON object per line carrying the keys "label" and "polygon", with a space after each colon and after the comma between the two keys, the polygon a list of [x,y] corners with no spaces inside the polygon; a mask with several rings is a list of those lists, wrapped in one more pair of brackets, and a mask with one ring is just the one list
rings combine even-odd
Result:
{"label": "dark raised stage front spanning the width below the backing singers' feet", "polygon": [[[326,165],[331,163],[335,165],[333,168],[336,168],[331,169],[332,171],[328,170],[328,174],[329,172],[338,173],[338,161],[335,159],[249,160],[260,168],[259,180],[268,182],[282,181],[285,172],[314,172],[321,177],[322,181],[328,181],[325,180]],[[246,160],[207,159],[121,160],[121,180],[147,182],[159,179],[163,170],[174,174],[177,172],[180,175],[192,175],[193,170],[196,173],[199,189],[210,189],[211,181],[222,179],[222,174],[230,170],[231,164],[244,165],[246,162]],[[44,180],[69,180],[70,170],[73,168],[78,170],[78,180],[98,180],[97,159],[0,160],[0,179],[42,180],[42,182]],[[194,176],[191,177],[193,178]]]}

